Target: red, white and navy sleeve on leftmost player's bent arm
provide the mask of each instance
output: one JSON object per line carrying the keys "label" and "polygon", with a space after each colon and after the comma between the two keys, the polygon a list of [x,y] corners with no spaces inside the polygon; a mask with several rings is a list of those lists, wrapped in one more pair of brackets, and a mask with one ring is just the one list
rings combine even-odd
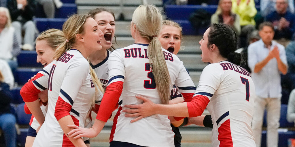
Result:
{"label": "red, white and navy sleeve on leftmost player's bent arm", "polygon": [[38,99],[38,93],[47,89],[48,71],[50,67],[51,64],[39,71],[33,80],[24,84],[19,92],[24,102],[36,101]]}

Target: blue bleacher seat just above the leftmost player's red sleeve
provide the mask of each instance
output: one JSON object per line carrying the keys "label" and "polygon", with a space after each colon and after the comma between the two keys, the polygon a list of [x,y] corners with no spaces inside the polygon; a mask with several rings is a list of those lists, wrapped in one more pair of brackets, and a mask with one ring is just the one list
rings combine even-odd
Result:
{"label": "blue bleacher seat just above the leftmost player's red sleeve", "polygon": [[16,74],[14,75],[14,80],[19,85],[24,85],[27,83],[28,79],[30,79],[32,76],[36,75],[40,70],[42,69],[17,69]]}

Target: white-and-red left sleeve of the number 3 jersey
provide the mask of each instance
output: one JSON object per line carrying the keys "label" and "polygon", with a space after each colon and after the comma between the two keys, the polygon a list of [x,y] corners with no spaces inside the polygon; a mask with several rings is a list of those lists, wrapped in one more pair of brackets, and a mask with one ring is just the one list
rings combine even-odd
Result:
{"label": "white-and-red left sleeve of the number 3 jersey", "polygon": [[109,119],[109,116],[117,107],[125,77],[125,66],[120,50],[113,51],[109,56],[108,62],[109,82],[96,116],[96,119],[104,122]]}

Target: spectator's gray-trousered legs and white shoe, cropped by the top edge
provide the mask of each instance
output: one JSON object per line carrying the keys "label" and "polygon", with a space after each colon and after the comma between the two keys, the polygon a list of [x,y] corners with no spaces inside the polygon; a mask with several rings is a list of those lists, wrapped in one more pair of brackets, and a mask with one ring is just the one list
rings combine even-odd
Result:
{"label": "spectator's gray-trousered legs and white shoe, cropped by the top edge", "polygon": [[60,0],[37,0],[37,2],[43,7],[47,18],[54,18],[55,7],[59,9],[63,6]]}

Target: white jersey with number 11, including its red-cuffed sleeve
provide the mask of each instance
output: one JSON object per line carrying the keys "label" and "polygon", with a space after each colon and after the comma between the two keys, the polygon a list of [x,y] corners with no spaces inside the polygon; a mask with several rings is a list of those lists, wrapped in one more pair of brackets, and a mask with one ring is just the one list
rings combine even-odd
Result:
{"label": "white jersey with number 11, including its red-cuffed sleeve", "polygon": [[[33,146],[73,146],[63,133],[57,118],[69,113],[75,125],[84,127],[95,91],[89,74],[89,63],[78,50],[71,49],[44,70],[49,72],[48,111]],[[64,106],[57,102],[63,102]],[[57,106],[66,107],[65,110],[69,112],[58,113],[60,111],[57,111]]]}

